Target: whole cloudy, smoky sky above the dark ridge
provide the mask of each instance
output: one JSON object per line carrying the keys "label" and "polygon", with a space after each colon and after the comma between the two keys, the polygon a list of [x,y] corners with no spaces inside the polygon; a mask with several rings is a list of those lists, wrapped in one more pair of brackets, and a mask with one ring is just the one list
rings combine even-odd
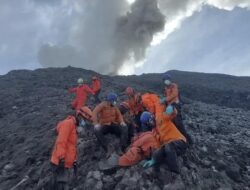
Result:
{"label": "whole cloudy, smoky sky above the dark ridge", "polygon": [[250,0],[1,0],[0,75],[72,65],[250,76]]}

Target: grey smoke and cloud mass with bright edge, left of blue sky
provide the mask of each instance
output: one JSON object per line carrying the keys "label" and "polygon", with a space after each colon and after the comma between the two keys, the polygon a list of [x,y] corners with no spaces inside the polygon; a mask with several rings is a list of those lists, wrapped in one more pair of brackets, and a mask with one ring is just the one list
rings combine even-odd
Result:
{"label": "grey smoke and cloud mass with bright edge, left of blue sky", "polygon": [[249,9],[250,1],[2,0],[1,65],[6,72],[37,68],[39,61],[43,67],[71,65],[104,74],[128,66],[133,74],[152,44],[160,44],[206,5],[230,11]]}

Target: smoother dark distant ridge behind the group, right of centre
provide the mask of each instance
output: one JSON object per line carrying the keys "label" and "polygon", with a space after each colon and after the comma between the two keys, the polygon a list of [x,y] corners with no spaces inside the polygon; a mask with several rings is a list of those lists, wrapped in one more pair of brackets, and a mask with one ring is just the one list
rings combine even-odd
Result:
{"label": "smoother dark distant ridge behind the group, right of centre", "polygon": [[[223,74],[205,74],[169,71],[181,89],[181,95],[192,100],[232,108],[250,109],[250,77],[235,77]],[[124,79],[125,77],[117,77]],[[161,75],[144,74],[131,76],[126,81],[136,86],[150,86],[161,93]]]}

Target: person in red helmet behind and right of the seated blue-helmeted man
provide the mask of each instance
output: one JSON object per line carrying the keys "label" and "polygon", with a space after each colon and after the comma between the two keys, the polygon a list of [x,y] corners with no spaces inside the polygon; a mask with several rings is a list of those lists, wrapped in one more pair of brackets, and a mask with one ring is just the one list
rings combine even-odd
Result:
{"label": "person in red helmet behind and right of the seated blue-helmeted man", "polygon": [[136,93],[132,87],[127,87],[125,90],[125,94],[128,96],[128,104],[130,108],[130,115],[134,118],[135,127],[137,132],[140,131],[140,116],[142,114],[143,106],[141,104],[141,94]]}

